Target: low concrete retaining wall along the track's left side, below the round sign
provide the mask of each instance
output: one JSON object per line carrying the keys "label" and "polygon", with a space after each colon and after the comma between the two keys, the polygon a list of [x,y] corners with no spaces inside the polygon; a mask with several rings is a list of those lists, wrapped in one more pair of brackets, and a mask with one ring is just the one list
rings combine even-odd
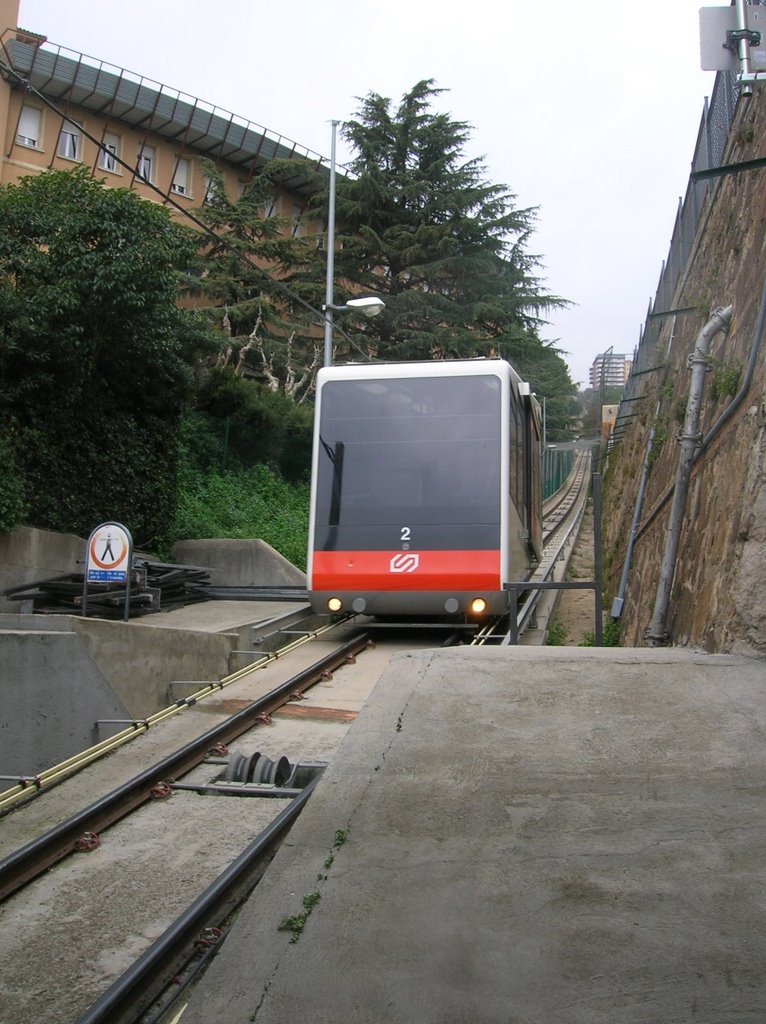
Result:
{"label": "low concrete retaining wall along the track's left side, below the round sign", "polygon": [[0,614],[0,774],[34,775],[120,731],[99,729],[99,719],[162,711],[178,696],[177,680],[199,689],[220,680],[241,635]]}

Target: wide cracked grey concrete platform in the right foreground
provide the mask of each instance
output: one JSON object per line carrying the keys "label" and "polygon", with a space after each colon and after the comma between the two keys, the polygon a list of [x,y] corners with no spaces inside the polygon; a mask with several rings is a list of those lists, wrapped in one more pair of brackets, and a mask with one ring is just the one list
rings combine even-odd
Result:
{"label": "wide cracked grey concrete platform in the right foreground", "polygon": [[765,691],[688,651],[396,656],[182,1024],[760,1024]]}

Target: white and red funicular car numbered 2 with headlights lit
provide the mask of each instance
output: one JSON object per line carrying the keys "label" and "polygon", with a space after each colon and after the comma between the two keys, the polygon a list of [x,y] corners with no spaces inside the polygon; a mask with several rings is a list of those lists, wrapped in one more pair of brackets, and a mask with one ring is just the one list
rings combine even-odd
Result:
{"label": "white and red funicular car numbered 2 with headlights lit", "polygon": [[502,359],[328,367],[314,419],[318,612],[475,621],[542,553],[541,414]]}

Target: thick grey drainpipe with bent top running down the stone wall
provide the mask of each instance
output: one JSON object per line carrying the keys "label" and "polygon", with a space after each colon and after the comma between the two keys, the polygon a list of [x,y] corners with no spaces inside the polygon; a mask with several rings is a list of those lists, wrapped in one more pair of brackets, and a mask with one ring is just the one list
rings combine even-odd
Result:
{"label": "thick grey drainpipe with bent top running down the stone wall", "polygon": [[686,402],[683,430],[679,435],[681,456],[676,472],[676,487],[673,493],[673,507],[671,508],[670,521],[668,523],[668,537],[666,538],[665,552],[659,566],[659,583],[657,584],[656,597],[654,598],[654,613],[646,630],[646,640],[650,647],[659,647],[669,640],[667,627],[668,606],[670,604],[673,577],[676,571],[681,525],[686,507],[686,495],[689,489],[691,466],[694,462],[696,449],[701,441],[701,434],[698,432],[699,410],[703,401],[703,390],[705,388],[705,374],[708,369],[708,352],[710,351],[711,342],[718,332],[723,331],[726,333],[729,330],[732,309],[733,306],[726,306],[726,308],[719,307],[714,310],[713,315],[697,335],[694,351],[689,356],[691,383],[689,384],[689,397]]}

